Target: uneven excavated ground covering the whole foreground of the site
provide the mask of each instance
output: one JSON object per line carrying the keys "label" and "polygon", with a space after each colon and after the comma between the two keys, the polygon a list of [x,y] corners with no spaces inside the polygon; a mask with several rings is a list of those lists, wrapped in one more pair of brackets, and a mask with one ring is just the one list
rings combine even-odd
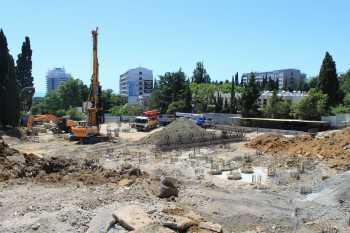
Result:
{"label": "uneven excavated ground covering the whole foreground of the site", "polygon": [[[39,142],[4,136],[0,232],[128,232],[113,216],[139,233],[350,232],[348,134],[249,135],[247,143],[157,153],[126,138],[77,145],[50,133]],[[244,169],[253,173],[227,178]],[[159,197],[161,177],[174,180],[177,196]]]}

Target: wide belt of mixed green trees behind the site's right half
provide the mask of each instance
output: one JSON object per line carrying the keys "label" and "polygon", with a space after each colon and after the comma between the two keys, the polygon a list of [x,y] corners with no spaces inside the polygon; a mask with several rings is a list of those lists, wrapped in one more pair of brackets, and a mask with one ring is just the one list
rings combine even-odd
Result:
{"label": "wide belt of mixed green trees behind the site's right half", "polygon": [[[350,112],[350,70],[338,76],[332,56],[326,52],[319,75],[301,82],[297,90],[307,92],[293,104],[278,96],[278,83],[267,77],[256,83],[254,73],[247,83],[239,81],[238,73],[231,81],[213,82],[198,62],[191,78],[180,69],[167,72],[155,81],[149,108],[162,113],[218,112],[237,113],[249,117],[299,118],[319,120],[322,115]],[[288,90],[283,87],[283,90]],[[258,98],[264,90],[273,91],[267,103],[260,108]],[[229,94],[229,99],[224,95]]]}

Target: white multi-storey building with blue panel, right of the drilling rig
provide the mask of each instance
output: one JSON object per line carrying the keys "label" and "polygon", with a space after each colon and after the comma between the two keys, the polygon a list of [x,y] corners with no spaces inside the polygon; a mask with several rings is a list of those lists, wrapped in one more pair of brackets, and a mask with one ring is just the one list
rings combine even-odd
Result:
{"label": "white multi-storey building with blue panel, right of the drilling rig", "polygon": [[120,95],[128,98],[129,104],[147,103],[153,90],[152,70],[138,67],[120,75]]}

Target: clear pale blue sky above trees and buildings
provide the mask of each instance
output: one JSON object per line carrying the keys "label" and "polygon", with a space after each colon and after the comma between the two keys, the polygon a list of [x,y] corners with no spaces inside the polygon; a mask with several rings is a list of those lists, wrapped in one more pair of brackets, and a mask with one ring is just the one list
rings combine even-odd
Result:
{"label": "clear pale blue sky above trees and buildings", "polygon": [[329,51],[338,72],[350,68],[348,0],[3,0],[1,7],[11,54],[31,39],[39,95],[53,67],[89,84],[96,26],[102,87],[116,92],[119,75],[137,66],[155,76],[181,67],[191,76],[204,61],[214,80],[280,68],[313,76]]}

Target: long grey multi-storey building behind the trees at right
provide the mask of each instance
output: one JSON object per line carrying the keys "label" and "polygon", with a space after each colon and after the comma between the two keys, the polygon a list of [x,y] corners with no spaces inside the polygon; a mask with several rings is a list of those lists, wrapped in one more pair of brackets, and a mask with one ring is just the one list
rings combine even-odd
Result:
{"label": "long grey multi-storey building behind the trees at right", "polygon": [[[252,73],[245,73],[242,75],[242,82],[248,83],[249,78]],[[253,72],[255,75],[255,80],[258,84],[262,85],[264,79],[268,81],[269,79],[278,82],[279,89],[297,89],[300,82],[302,82],[306,75],[301,73],[297,69],[283,69],[268,72]]]}

